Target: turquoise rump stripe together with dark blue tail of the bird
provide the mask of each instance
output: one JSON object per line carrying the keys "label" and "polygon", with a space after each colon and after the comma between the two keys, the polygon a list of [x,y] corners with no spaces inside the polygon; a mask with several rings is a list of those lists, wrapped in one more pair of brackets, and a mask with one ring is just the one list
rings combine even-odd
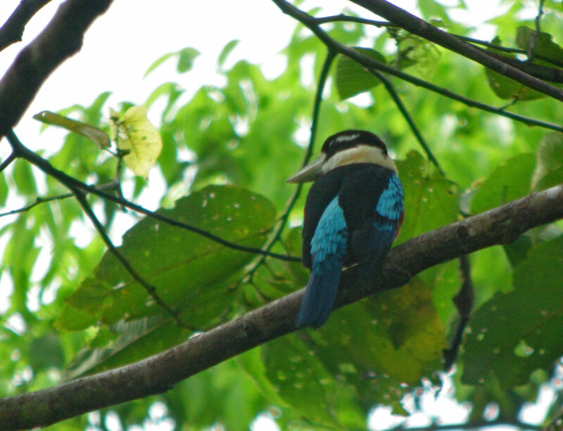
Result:
{"label": "turquoise rump stripe together with dark blue tail of the bird", "polygon": [[329,319],[346,254],[348,229],[338,196],[331,200],[311,240],[312,267],[296,328],[319,328]]}

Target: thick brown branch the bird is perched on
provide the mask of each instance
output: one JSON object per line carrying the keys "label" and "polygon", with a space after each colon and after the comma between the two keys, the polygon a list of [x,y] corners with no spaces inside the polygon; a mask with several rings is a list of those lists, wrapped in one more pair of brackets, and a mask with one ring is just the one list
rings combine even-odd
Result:
{"label": "thick brown branch the bird is perched on", "polygon": [[[420,271],[563,218],[563,185],[531,193],[502,207],[425,233],[389,252],[377,276],[358,266],[341,278],[336,307],[398,288]],[[0,400],[0,429],[48,425],[87,411],[165,392],[177,382],[295,330],[303,290],[143,361]]]}

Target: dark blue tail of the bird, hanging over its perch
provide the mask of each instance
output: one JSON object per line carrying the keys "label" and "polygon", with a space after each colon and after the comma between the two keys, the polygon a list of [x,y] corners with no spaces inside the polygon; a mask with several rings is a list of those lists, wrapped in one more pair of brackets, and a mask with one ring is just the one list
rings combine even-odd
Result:
{"label": "dark blue tail of the bird, hanging over its perch", "polygon": [[295,322],[296,328],[312,326],[320,328],[329,319],[330,312],[339,287],[342,268],[324,269],[322,274],[311,273],[305,294],[301,300],[301,308]]}

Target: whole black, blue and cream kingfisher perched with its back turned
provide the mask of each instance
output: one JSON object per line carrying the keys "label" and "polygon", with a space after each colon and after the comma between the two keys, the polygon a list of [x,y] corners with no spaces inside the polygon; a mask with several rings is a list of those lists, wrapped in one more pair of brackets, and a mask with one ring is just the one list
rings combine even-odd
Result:
{"label": "whole black, blue and cream kingfisher perched with its back turned", "polygon": [[377,135],[346,130],[329,136],[320,157],[287,180],[315,181],[305,201],[303,265],[310,277],[296,328],[329,319],[342,269],[381,264],[403,223],[403,186]]}

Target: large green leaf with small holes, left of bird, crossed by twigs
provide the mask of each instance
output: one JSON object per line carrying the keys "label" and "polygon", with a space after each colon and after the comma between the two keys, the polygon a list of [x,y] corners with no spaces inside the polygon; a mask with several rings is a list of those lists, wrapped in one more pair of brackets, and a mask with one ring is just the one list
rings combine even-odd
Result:
{"label": "large green leaf with small holes, left of bird, crossed by twigs", "polygon": [[[275,217],[270,201],[232,186],[209,186],[160,213],[253,247],[262,245]],[[192,328],[207,327],[232,304],[237,293],[236,274],[254,257],[150,217],[125,233],[118,250]],[[145,316],[170,317],[111,252],[106,252],[94,276],[82,282],[67,302],[89,314],[89,325]],[[66,326],[68,319],[57,319],[56,323],[61,329],[75,329]]]}

